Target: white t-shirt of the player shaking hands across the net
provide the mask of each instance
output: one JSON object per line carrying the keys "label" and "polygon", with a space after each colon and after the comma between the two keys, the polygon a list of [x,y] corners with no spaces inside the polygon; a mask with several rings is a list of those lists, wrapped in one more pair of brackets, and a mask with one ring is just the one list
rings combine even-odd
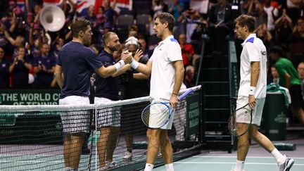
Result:
{"label": "white t-shirt of the player shaking hands across the net", "polygon": [[160,42],[150,58],[152,63],[150,96],[170,99],[175,84],[174,61],[182,61],[182,50],[173,36]]}

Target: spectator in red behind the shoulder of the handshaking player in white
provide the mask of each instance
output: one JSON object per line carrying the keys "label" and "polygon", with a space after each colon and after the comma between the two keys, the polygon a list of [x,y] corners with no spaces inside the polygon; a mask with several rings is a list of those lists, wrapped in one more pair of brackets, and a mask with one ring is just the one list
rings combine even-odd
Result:
{"label": "spectator in red behind the shoulder of the handshaking player in white", "polygon": [[194,47],[192,46],[192,44],[186,43],[186,34],[179,34],[179,46],[182,49],[182,58],[184,66],[192,65]]}

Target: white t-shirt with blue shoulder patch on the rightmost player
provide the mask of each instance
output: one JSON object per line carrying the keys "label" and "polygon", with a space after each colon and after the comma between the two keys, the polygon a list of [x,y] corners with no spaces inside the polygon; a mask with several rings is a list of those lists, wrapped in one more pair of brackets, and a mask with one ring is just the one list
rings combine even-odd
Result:
{"label": "white t-shirt with blue shoulder patch on the rightmost player", "polygon": [[[241,80],[238,95],[249,96],[248,94],[251,86],[251,62],[260,61],[260,74],[255,91],[257,91],[262,84],[267,85],[267,51],[262,40],[256,37],[255,34],[250,34],[241,45],[243,46],[243,51],[241,52]],[[257,97],[266,97],[266,86],[263,87]]]}

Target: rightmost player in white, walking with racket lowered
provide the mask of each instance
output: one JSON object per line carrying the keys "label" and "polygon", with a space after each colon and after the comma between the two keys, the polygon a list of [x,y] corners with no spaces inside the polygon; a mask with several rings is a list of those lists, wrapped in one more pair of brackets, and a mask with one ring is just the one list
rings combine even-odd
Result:
{"label": "rightmost player in white, walking with racket lowered", "polygon": [[[274,147],[270,139],[258,132],[258,126],[262,118],[262,108],[265,103],[266,87],[262,89],[256,99],[254,95],[255,90],[267,82],[267,51],[262,40],[253,34],[253,30],[255,30],[255,18],[250,15],[240,15],[234,23],[236,24],[234,29],[236,36],[244,40],[241,52],[241,80],[236,108],[241,108],[248,103],[253,108],[253,120],[248,132],[238,137],[237,160],[232,171],[243,171],[249,148],[249,139],[258,142],[260,146],[274,156],[280,171],[289,170],[293,165],[293,159],[282,155]],[[236,124],[238,127],[246,124],[241,120],[241,117],[238,117],[240,115],[242,113],[236,113]]]}

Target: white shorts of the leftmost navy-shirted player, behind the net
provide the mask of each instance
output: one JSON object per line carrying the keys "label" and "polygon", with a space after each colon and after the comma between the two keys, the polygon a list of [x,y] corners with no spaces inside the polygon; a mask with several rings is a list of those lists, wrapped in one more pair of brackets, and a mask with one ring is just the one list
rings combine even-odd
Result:
{"label": "white shorts of the leftmost navy-shirted player, behind the net", "polygon": [[[89,104],[89,97],[86,96],[67,96],[59,99],[59,105],[84,105]],[[61,122],[63,132],[77,133],[89,132],[90,114],[89,110],[65,111],[61,112]]]}

